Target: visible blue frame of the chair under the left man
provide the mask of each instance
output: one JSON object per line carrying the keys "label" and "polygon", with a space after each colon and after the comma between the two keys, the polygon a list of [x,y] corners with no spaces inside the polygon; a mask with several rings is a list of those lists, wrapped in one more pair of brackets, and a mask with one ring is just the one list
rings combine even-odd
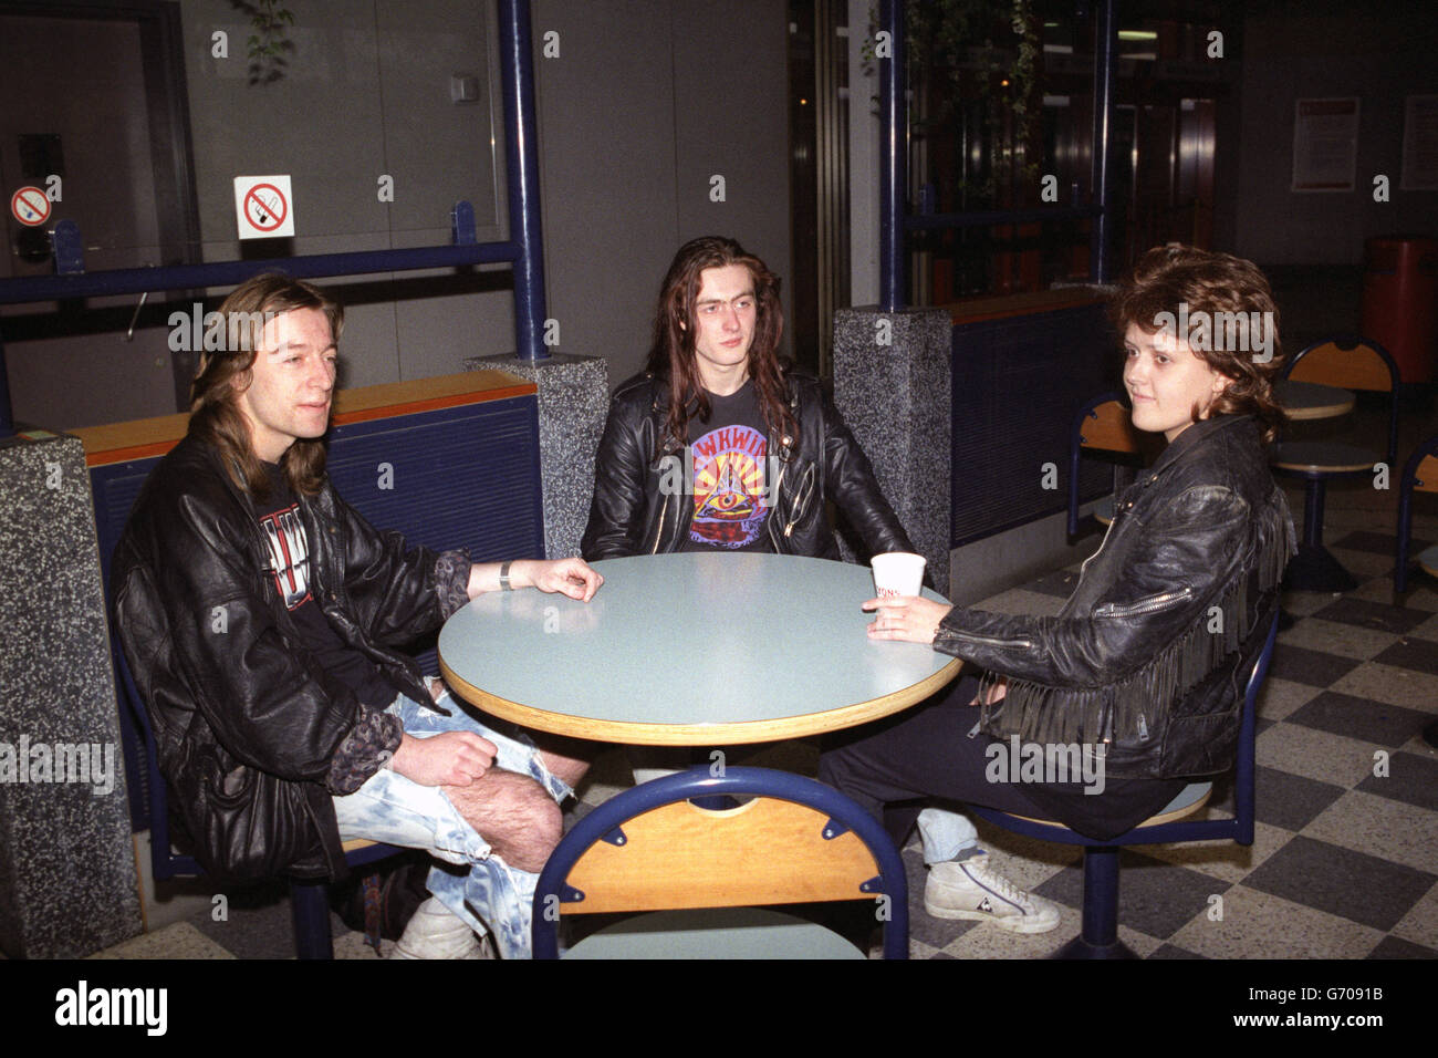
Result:
{"label": "visible blue frame of the chair under the left man", "polygon": [[[111,648],[115,659],[115,671],[119,674],[125,692],[125,704],[129,707],[139,733],[145,740],[145,773],[150,779],[150,867],[155,881],[170,881],[171,878],[196,878],[204,874],[200,861],[194,856],[175,854],[170,844],[170,792],[165,777],[160,772],[160,754],[155,749],[155,736],[150,727],[150,715],[145,713],[135,681],[129,674],[129,664],[125,652],[118,646]],[[378,842],[345,854],[345,864],[351,868],[385,859],[404,849]],[[295,954],[299,959],[334,959],[335,947],[329,933],[329,882],[313,878],[289,880],[289,911],[295,927]]]}

